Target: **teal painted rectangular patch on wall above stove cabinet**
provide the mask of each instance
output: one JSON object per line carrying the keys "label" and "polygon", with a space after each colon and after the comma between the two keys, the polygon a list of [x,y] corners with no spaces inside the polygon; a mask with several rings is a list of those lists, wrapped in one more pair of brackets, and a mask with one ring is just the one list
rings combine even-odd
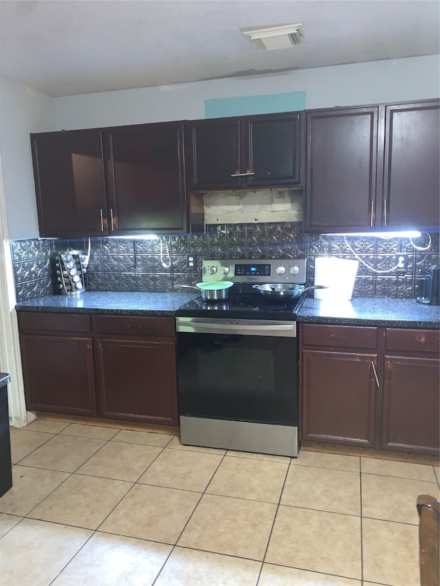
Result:
{"label": "teal painted rectangular patch on wall above stove cabinet", "polygon": [[243,95],[239,98],[214,98],[214,100],[205,100],[205,118],[296,112],[305,110],[305,98],[305,91]]}

